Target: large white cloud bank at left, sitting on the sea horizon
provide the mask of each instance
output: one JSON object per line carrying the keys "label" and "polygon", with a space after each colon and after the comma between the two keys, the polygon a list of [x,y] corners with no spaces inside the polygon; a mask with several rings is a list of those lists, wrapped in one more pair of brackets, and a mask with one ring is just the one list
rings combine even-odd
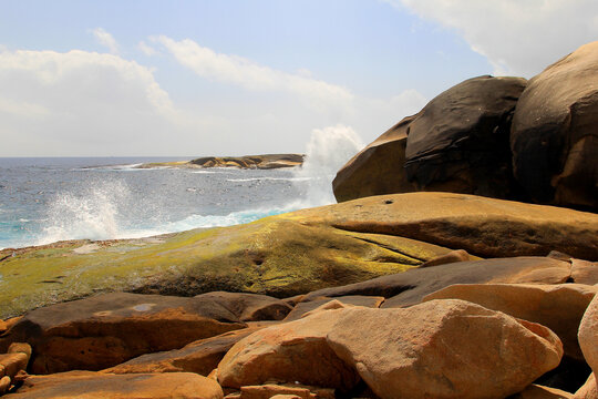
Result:
{"label": "large white cloud bank at left, sitting on the sea horizon", "polygon": [[0,53],[0,156],[174,151],[185,116],[152,72],[73,50]]}

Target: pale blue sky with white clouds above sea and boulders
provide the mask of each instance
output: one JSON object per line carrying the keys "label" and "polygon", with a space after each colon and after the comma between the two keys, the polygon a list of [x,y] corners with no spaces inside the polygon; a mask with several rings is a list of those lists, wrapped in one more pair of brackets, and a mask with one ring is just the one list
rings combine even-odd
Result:
{"label": "pale blue sky with white clouds above sea and boulders", "polygon": [[367,144],[465,79],[529,79],[594,40],[595,0],[0,0],[0,156]]}

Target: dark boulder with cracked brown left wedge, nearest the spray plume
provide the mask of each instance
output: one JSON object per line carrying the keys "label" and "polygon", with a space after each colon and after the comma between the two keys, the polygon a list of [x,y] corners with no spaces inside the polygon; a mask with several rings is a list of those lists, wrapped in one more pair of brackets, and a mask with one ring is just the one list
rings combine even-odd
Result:
{"label": "dark boulder with cracked brown left wedge, nearest the spray plume", "polygon": [[478,76],[433,99],[350,160],[337,201],[412,191],[516,196],[508,135],[523,78]]}

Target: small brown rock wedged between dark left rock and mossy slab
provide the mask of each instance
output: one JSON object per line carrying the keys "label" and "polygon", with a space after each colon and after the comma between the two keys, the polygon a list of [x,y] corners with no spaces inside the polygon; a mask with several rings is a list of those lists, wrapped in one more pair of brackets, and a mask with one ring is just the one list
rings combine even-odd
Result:
{"label": "small brown rock wedged between dark left rock and mossy slab", "polygon": [[230,310],[241,321],[282,320],[292,307],[267,295],[212,291],[196,296],[209,298]]}

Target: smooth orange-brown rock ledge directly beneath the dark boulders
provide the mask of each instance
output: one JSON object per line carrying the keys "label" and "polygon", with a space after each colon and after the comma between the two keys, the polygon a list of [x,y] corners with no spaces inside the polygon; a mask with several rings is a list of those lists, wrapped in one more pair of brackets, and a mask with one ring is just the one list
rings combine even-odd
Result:
{"label": "smooth orange-brown rock ledge directly beneath the dark boulders", "polygon": [[395,235],[481,257],[546,256],[598,260],[598,215],[453,193],[360,198],[288,215],[350,232]]}

